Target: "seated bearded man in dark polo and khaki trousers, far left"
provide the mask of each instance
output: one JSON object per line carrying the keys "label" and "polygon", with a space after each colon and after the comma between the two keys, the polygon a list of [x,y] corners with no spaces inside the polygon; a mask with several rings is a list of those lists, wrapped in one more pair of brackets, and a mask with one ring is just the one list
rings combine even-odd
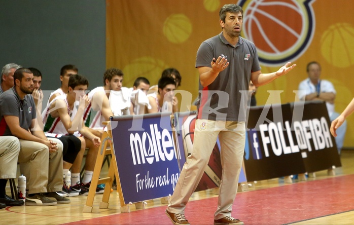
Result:
{"label": "seated bearded man in dark polo and khaki trousers, far left", "polygon": [[20,141],[18,162],[28,189],[25,204],[69,203],[69,199],[56,193],[63,185],[63,145],[56,138],[47,138],[41,128],[35,127],[32,72],[27,68],[17,69],[14,85],[0,95],[0,135],[12,135]]}

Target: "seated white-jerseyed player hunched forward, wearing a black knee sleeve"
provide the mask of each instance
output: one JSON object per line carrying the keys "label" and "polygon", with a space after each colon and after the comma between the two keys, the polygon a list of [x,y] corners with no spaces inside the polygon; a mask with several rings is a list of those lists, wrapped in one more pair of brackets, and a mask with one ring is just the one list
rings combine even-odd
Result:
{"label": "seated white-jerseyed player hunched forward, wearing a black knee sleeve", "polygon": [[[71,188],[84,196],[88,194],[100,143],[100,138],[94,135],[83,123],[85,108],[89,104],[88,96],[84,93],[87,87],[88,80],[85,77],[79,74],[71,75],[68,80],[68,93],[66,95],[57,95],[48,103],[48,107],[42,114],[45,124],[44,131],[47,136],[61,137],[69,134],[76,135],[80,139],[81,151],[74,160],[70,161],[70,165],[66,164],[65,169],[68,170],[71,167],[72,174],[75,175],[75,177],[72,176],[74,185]],[[77,96],[77,93],[80,97]],[[78,99],[80,100],[78,101]],[[85,174],[82,182],[80,182],[80,168],[85,148],[89,148],[89,150],[86,156]]]}

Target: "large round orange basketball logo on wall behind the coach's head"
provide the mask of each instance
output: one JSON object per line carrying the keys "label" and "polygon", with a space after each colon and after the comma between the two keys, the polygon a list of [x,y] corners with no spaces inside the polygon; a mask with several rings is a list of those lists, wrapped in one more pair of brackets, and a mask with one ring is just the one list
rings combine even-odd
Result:
{"label": "large round orange basketball logo on wall behind the coach's head", "polygon": [[240,0],[241,35],[253,42],[259,61],[278,66],[299,58],[312,41],[315,20],[313,0]]}

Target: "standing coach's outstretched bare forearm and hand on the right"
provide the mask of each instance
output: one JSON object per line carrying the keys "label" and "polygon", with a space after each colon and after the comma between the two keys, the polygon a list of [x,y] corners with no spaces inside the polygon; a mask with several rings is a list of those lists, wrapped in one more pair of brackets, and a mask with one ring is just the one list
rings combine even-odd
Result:
{"label": "standing coach's outstretched bare forearm and hand on the right", "polygon": [[292,70],[296,66],[296,64],[289,66],[290,64],[291,62],[287,62],[287,64],[281,66],[280,69],[276,72],[262,73],[261,70],[252,72],[251,81],[256,87],[269,84],[275,79],[287,74],[290,70]]}

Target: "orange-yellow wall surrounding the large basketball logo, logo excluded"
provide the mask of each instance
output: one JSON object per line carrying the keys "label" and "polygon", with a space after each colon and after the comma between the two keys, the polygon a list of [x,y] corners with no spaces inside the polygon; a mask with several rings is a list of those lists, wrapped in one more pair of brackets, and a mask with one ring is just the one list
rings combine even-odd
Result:
{"label": "orange-yellow wall surrounding the large basketball logo, logo excluded", "polygon": [[[266,1],[265,2],[291,2]],[[251,4],[252,0],[245,1]],[[304,0],[297,1],[303,3]],[[204,40],[221,32],[219,10],[223,0],[107,0],[106,60],[107,68],[124,72],[124,86],[131,87],[137,77],[157,84],[163,69],[174,67],[182,76],[180,90],[197,97],[198,72],[195,56]],[[247,4],[244,6],[247,7]],[[306,64],[318,61],[322,79],[333,83],[337,97],[335,109],[341,113],[354,97],[354,17],[352,0],[317,0],[311,2],[315,19],[313,38],[307,50],[293,61],[297,66],[285,77],[262,86],[257,91],[257,103],[263,105],[268,90],[284,90],[281,103],[293,102],[299,83],[307,78]],[[243,8],[245,10],[245,8]],[[285,12],[286,13],[286,12]],[[294,22],[294,17],[289,16]],[[296,21],[301,22],[301,21]],[[245,29],[246,21],[243,24]],[[268,29],[271,29],[267,27]],[[273,31],[274,35],[277,31]],[[279,42],[287,37],[279,36]],[[257,45],[256,45],[257,46]],[[272,72],[280,66],[262,66],[262,72]],[[345,147],[354,146],[354,116],[347,119]]]}

